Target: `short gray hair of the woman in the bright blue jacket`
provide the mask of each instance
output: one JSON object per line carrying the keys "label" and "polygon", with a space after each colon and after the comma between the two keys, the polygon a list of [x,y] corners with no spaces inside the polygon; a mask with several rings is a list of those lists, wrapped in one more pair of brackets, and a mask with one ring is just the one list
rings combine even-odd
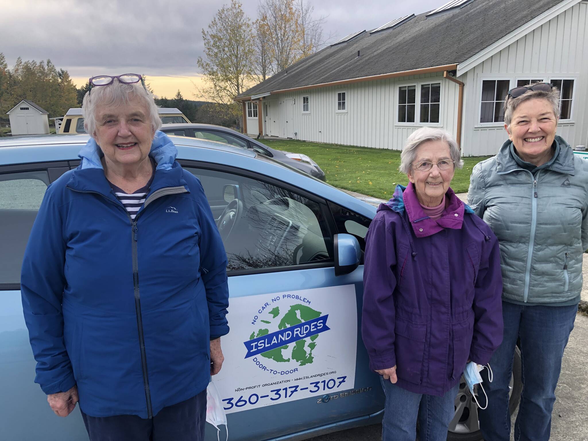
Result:
{"label": "short gray hair of the woman in the bright blue jacket", "polygon": [[82,115],[83,125],[90,135],[96,130],[96,109],[101,105],[119,106],[129,102],[131,95],[143,101],[147,108],[147,121],[151,123],[153,132],[161,128],[158,107],[153,94],[143,88],[141,82],[126,84],[115,79],[108,86],[93,86],[91,91],[83,96]]}

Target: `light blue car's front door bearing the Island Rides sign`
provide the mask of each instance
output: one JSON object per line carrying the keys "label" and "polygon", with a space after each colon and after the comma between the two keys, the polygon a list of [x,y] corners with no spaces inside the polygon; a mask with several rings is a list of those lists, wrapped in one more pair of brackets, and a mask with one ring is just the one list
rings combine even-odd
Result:
{"label": "light blue car's front door bearing the Island Rides sign", "polygon": [[338,221],[328,203],[269,176],[181,162],[201,179],[211,205],[219,188],[236,199],[225,201],[218,220],[230,332],[213,377],[231,438],[365,424],[382,410],[383,394],[359,333],[363,266],[335,276]]}

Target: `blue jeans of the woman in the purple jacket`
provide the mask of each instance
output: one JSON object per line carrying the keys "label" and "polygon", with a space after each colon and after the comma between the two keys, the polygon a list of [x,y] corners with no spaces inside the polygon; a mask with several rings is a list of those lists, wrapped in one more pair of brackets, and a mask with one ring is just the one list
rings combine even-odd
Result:
{"label": "blue jeans of the woman in the purple jacket", "polygon": [[443,396],[433,396],[409,392],[382,376],[380,381],[386,394],[382,441],[415,441],[417,417],[420,441],[447,439],[447,427],[455,414],[459,384]]}

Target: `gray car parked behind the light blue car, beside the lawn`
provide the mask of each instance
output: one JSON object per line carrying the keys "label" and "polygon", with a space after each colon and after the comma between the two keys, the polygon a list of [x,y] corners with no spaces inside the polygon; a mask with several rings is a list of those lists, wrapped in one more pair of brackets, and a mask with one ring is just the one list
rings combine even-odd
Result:
{"label": "gray car parked behind the light blue car, beside the lawn", "polygon": [[208,139],[210,141],[223,142],[236,147],[253,150],[263,156],[276,159],[310,176],[325,181],[325,172],[318,164],[306,155],[300,153],[283,152],[272,149],[256,139],[249,138],[243,133],[212,124],[163,124],[161,131],[168,135],[189,136],[191,138]]}

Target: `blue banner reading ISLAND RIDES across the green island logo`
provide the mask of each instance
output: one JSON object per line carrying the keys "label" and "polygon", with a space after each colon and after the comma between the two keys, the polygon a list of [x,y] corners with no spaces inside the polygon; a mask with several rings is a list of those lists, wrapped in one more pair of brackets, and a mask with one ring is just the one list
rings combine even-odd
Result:
{"label": "blue banner reading ISLAND RIDES across the green island logo", "polygon": [[328,317],[328,314],[323,315],[316,319],[308,320],[308,322],[302,322],[298,325],[290,326],[290,328],[280,329],[276,332],[243,342],[243,345],[247,348],[245,358],[325,332],[330,329],[327,326]]}

